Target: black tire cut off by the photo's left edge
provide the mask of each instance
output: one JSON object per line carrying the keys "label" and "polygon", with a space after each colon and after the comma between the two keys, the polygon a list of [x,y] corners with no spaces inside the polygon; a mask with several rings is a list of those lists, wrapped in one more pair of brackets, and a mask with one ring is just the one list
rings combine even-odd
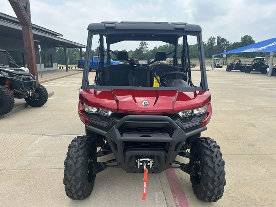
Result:
{"label": "black tire cut off by the photo's left edge", "polygon": [[0,86],[0,115],[9,113],[14,106],[14,97],[10,89]]}

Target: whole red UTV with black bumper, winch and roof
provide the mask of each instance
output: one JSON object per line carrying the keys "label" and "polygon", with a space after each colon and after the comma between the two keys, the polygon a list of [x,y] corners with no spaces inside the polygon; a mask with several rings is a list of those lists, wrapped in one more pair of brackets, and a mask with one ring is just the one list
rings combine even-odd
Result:
{"label": "whole red UTV with black bumper, winch and roof", "polygon": [[[96,174],[106,168],[121,167],[128,173],[144,173],[145,177],[147,173],[178,168],[190,174],[199,199],[218,201],[226,183],[224,160],[219,145],[201,137],[212,114],[201,27],[167,22],[93,23],[88,26],[85,60],[90,57],[92,37],[97,36],[100,65],[93,76],[89,62],[85,62],[79,94],[78,112],[86,135],[71,142],[64,162],[67,196],[76,200],[88,197]],[[201,70],[193,71],[197,86],[191,76],[190,37],[198,44]],[[161,40],[174,45],[174,50],[156,52],[155,59],[147,64],[128,59],[125,51],[111,50],[114,43],[132,40]],[[178,49],[182,51],[181,63]],[[110,53],[129,64],[110,65]],[[174,55],[173,65],[152,64],[165,61],[170,54]],[[98,157],[111,153],[115,159],[97,162]],[[190,161],[179,162],[179,156]]]}

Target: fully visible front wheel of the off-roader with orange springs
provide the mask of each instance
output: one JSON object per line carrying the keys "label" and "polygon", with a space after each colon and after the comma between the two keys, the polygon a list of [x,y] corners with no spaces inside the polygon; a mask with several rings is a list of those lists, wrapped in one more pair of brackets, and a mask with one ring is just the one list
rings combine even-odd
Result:
{"label": "fully visible front wheel of the off-roader with orange springs", "polygon": [[43,106],[48,100],[48,92],[46,88],[40,84],[36,85],[36,90],[31,97],[25,98],[25,102],[32,107]]}

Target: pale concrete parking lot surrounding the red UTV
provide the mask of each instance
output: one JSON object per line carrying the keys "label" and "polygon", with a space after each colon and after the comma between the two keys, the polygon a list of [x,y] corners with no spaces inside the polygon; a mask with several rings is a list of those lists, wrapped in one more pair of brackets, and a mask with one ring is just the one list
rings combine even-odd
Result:
{"label": "pale concrete parking lot surrounding the red UTV", "polygon": [[[195,84],[198,74],[192,71]],[[219,201],[199,201],[190,176],[178,169],[149,174],[147,199],[142,201],[143,174],[117,168],[97,174],[87,199],[69,199],[63,162],[71,140],[85,133],[77,113],[80,73],[42,83],[54,91],[44,106],[0,120],[0,205],[177,206],[183,203],[177,197],[182,191],[185,206],[276,206],[276,77],[225,68],[207,75],[213,115],[202,136],[217,141],[225,160],[226,186]],[[171,187],[168,175],[176,176],[180,189]]]}

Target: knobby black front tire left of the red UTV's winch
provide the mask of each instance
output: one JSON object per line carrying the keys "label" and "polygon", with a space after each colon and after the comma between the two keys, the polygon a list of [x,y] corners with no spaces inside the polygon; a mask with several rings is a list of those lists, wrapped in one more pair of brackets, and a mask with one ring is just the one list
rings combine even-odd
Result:
{"label": "knobby black front tire left of the red UTV's winch", "polygon": [[78,136],[69,144],[64,161],[64,178],[66,195],[74,200],[87,198],[94,186],[96,175],[92,167],[97,163],[96,144],[90,136]]}

